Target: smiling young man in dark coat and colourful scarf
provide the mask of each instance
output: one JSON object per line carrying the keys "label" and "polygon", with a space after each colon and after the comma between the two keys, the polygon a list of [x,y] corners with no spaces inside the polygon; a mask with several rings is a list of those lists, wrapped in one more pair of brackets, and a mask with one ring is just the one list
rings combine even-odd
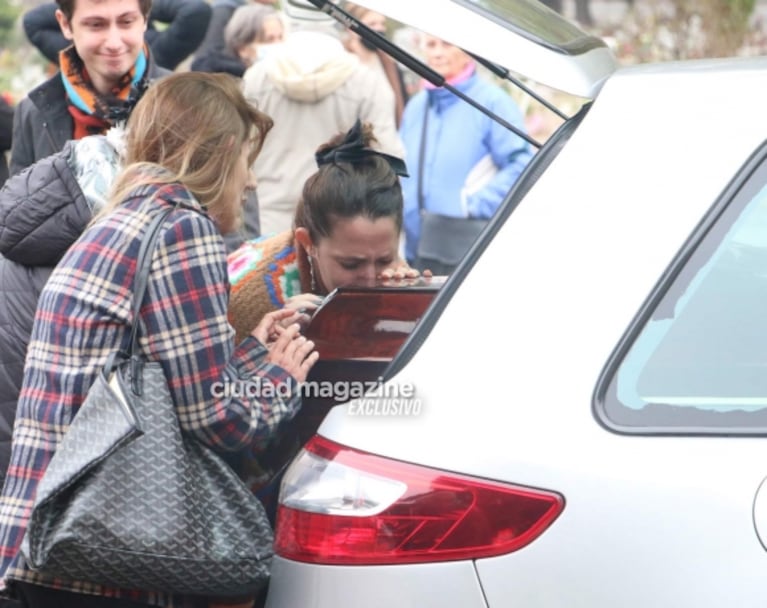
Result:
{"label": "smiling young man in dark coat and colourful scarf", "polygon": [[58,0],[56,19],[72,45],[60,71],[16,109],[11,174],[58,152],[69,139],[124,121],[149,82],[169,72],[144,43],[151,0]]}

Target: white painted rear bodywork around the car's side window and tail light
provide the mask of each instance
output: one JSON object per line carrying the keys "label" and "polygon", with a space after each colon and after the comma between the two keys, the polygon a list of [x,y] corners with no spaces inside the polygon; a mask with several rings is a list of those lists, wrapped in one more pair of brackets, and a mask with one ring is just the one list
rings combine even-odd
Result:
{"label": "white painted rear bodywork around the car's side window and tail light", "polygon": [[[341,405],[320,427],[385,457],[564,495],[531,545],[476,562],[488,605],[763,605],[753,511],[767,443],[613,433],[592,397],[669,263],[763,143],[766,80],[763,59],[617,72],[390,381],[415,387],[419,414]],[[283,560],[279,575],[306,568]],[[383,605],[371,588],[388,573],[314,568],[343,580],[344,605]],[[330,597],[303,593],[300,605],[339,605]]]}

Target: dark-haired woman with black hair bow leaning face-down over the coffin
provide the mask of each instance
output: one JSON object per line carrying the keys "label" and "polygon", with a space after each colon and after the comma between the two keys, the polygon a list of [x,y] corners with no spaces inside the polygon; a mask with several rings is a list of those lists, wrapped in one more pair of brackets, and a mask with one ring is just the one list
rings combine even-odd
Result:
{"label": "dark-haired woman with black hair bow leaning face-down over the coffin", "polygon": [[229,318],[237,336],[269,311],[314,310],[341,285],[418,276],[399,255],[405,163],[371,148],[374,142],[372,127],[357,121],[320,146],[293,229],[229,255]]}

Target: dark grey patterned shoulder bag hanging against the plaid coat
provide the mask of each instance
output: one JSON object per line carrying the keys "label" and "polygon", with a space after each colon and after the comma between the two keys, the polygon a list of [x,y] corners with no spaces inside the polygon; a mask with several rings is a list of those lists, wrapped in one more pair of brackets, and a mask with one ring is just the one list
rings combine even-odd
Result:
{"label": "dark grey patterned shoulder bag hanging against the plaid coat", "polygon": [[[170,209],[167,210],[170,212]],[[273,534],[260,501],[182,434],[159,363],[137,355],[161,213],[139,252],[130,353],[102,370],[40,480],[22,551],[34,570],[175,594],[258,591]]]}

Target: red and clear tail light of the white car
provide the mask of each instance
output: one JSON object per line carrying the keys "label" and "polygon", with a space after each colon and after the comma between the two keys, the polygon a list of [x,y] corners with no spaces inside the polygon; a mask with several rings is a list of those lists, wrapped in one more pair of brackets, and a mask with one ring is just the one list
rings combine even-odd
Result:
{"label": "red and clear tail light of the white car", "polygon": [[564,508],[554,492],[389,460],[314,437],[285,474],[279,555],[318,564],[402,564],[510,553]]}

